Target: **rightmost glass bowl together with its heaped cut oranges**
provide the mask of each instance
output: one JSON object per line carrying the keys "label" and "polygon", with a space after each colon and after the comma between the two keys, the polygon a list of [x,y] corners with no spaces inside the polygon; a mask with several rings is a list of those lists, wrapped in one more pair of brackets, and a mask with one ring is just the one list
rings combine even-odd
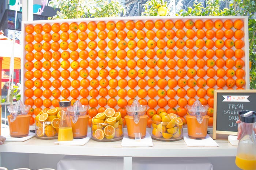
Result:
{"label": "rightmost glass bowl together with its heaped cut oranges", "polygon": [[183,138],[183,122],[176,114],[162,112],[152,117],[151,137],[157,141],[178,141]]}

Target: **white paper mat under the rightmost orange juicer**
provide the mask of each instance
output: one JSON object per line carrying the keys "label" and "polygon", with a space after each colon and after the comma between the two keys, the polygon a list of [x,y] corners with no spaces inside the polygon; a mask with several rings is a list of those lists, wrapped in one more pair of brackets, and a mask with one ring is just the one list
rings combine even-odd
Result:
{"label": "white paper mat under the rightmost orange juicer", "polygon": [[219,147],[208,134],[205,139],[190,139],[188,133],[183,134],[183,139],[188,147]]}

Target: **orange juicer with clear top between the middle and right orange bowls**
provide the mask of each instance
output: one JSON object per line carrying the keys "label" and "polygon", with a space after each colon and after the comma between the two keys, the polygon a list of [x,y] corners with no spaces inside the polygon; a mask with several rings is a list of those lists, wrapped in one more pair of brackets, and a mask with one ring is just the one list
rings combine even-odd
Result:
{"label": "orange juicer with clear top between the middle and right orange bowls", "polygon": [[147,118],[145,115],[147,105],[140,105],[135,99],[132,105],[125,106],[127,114],[124,118],[127,124],[128,137],[131,139],[141,138],[146,136]]}

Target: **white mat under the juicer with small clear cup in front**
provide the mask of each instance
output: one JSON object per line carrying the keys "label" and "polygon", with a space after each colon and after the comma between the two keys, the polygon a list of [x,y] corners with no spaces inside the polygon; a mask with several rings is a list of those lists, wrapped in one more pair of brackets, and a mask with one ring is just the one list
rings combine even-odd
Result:
{"label": "white mat under the juicer with small clear cup in front", "polygon": [[146,132],[146,137],[137,141],[135,139],[130,139],[127,133],[124,133],[124,137],[121,143],[122,146],[138,146],[138,147],[148,147],[153,146],[153,141],[148,132]]}

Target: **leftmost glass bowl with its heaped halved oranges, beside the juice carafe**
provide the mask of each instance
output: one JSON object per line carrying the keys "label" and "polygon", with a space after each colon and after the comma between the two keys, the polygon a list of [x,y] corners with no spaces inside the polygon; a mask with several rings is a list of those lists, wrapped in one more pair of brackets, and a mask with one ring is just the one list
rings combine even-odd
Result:
{"label": "leftmost glass bowl with its heaped halved oranges, beside the juice carafe", "polygon": [[41,110],[35,116],[35,137],[38,139],[57,139],[60,126],[60,108]]}

